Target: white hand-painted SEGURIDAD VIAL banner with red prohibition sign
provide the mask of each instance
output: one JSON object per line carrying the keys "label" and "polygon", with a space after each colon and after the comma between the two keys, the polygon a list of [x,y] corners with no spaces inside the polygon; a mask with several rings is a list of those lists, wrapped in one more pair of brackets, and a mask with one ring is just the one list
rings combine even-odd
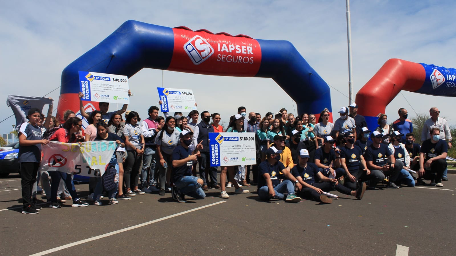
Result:
{"label": "white hand-painted SEGURIDAD VIAL banner with red prohibition sign", "polygon": [[89,177],[103,176],[117,144],[115,141],[62,143],[51,141],[42,145],[40,171],[60,171]]}

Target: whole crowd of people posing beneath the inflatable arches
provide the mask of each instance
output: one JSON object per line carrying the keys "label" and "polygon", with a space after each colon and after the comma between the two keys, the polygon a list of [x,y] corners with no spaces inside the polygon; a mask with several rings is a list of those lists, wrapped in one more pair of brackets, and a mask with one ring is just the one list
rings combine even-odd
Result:
{"label": "whole crowd of people posing beneath the inflatable arches", "polygon": [[[337,197],[330,193],[334,190],[361,200],[367,189],[378,190],[380,182],[399,189],[425,184],[424,180],[442,187],[442,180],[448,180],[446,155],[451,133],[435,107],[422,124],[420,145],[415,142],[413,126],[421,124],[407,119],[404,108],[392,125],[386,114],[379,115],[373,131],[357,113],[356,103],[340,108],[334,123],[329,122],[327,109],[317,120],[315,114],[295,116],[285,108],[262,118],[260,113],[247,113],[245,107],[239,107],[223,128],[220,114],[208,111],[160,116],[159,107],[151,106],[147,118],[141,120],[138,112],[126,111],[126,104],[109,112],[109,103],[99,102],[100,110],[86,113],[82,97],[79,93],[80,113],[89,124],[85,129],[71,110],[63,113],[62,124],[52,116],[52,105],[47,116],[37,108],[28,111],[29,121],[18,133],[22,213],[39,213],[37,190],[42,190],[52,209],[61,207],[62,198],[73,200],[73,207],[88,206],[88,201],[102,205],[104,191],[109,204],[147,193],[170,193],[173,200],[185,203],[185,196],[204,199],[204,191],[209,189],[219,189],[220,197],[228,199],[227,189],[249,193],[249,186],[257,186],[260,200],[296,203],[304,197],[332,203]],[[213,132],[254,133],[256,164],[221,167],[218,181],[218,169],[209,161],[209,133]],[[72,174],[38,172],[42,144],[96,140],[115,141],[117,148],[103,177],[90,178],[87,200],[78,196]]]}

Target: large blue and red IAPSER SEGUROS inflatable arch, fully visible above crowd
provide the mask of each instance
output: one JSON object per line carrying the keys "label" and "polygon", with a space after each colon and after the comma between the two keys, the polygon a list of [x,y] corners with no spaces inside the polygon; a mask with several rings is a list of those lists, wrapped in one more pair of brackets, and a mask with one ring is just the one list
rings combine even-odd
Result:
{"label": "large blue and red IAPSER SEGUROS inflatable arch, fully visible above crowd", "polygon": [[[63,70],[57,117],[62,120],[67,109],[79,111],[78,71],[131,77],[145,67],[218,76],[270,77],[296,102],[298,113],[315,113],[318,118],[325,108],[332,112],[328,85],[289,41],[256,40],[245,35],[127,20]],[[86,107],[98,109],[98,103],[90,103],[83,102]]]}

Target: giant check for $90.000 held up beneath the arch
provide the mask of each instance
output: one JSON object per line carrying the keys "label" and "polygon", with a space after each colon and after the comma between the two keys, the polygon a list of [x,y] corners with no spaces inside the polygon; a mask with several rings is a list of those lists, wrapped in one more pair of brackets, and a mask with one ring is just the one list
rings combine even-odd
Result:
{"label": "giant check for $90.000 held up beneath the arch", "polygon": [[161,100],[162,112],[190,112],[195,107],[195,95],[192,90],[157,87]]}

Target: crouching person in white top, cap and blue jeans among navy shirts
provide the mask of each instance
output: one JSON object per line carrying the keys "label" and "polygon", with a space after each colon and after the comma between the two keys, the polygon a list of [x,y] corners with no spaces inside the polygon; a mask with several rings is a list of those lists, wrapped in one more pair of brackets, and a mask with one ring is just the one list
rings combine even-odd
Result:
{"label": "crouching person in white top, cap and blue jeans among navy shirts", "polygon": [[394,131],[391,136],[391,143],[388,145],[389,150],[394,155],[394,159],[396,159],[396,163],[400,161],[404,165],[404,168],[400,171],[395,184],[398,186],[404,184],[409,187],[415,187],[415,180],[408,171],[410,169],[410,156],[409,152],[407,152],[407,149],[402,143],[403,136],[404,134],[399,131]]}

